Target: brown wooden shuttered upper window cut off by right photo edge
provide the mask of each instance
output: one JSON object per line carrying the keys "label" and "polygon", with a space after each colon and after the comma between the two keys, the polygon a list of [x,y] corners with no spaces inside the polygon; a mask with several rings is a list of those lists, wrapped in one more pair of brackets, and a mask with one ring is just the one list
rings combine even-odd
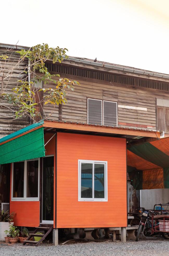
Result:
{"label": "brown wooden shuttered upper window cut off by right photo edge", "polygon": [[157,99],[157,130],[169,133],[169,100]]}

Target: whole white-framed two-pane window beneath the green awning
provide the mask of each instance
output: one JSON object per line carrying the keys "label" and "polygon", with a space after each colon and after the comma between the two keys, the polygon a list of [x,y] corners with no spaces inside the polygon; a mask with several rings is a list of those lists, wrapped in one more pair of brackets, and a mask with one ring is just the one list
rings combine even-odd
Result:
{"label": "whole white-framed two-pane window beneath the green awning", "polygon": [[39,159],[12,164],[12,201],[39,201]]}

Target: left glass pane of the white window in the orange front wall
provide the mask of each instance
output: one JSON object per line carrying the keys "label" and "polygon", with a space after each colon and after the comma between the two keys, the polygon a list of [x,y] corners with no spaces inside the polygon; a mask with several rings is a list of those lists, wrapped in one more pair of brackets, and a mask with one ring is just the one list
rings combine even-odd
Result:
{"label": "left glass pane of the white window in the orange front wall", "polygon": [[81,164],[81,197],[92,198],[92,164]]}

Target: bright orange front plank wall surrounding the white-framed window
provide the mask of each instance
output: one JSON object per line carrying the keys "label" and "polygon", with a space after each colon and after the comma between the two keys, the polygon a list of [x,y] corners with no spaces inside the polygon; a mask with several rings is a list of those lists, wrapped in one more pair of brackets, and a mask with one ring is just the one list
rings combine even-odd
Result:
{"label": "bright orange front plank wall surrounding the white-framed window", "polygon": [[[59,132],[57,138],[57,228],[126,226],[126,139]],[[78,201],[78,159],[108,161],[108,202]]]}

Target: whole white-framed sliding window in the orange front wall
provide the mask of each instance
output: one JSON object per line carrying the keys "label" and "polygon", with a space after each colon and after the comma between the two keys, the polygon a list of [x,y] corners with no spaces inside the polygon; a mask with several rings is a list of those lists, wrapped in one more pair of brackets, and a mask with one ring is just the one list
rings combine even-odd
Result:
{"label": "whole white-framed sliding window in the orange front wall", "polygon": [[107,161],[78,160],[79,201],[107,201]]}

